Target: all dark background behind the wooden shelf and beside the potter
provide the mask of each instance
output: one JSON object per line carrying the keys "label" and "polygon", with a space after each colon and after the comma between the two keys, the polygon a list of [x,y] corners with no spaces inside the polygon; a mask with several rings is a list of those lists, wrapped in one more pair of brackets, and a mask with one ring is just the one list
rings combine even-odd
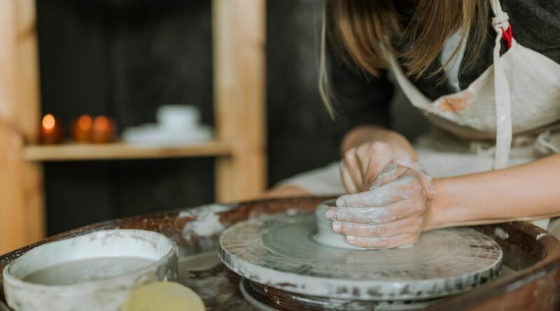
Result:
{"label": "all dark background behind the wooden shelf and beside the potter", "polygon": [[[351,120],[333,122],[317,91],[317,0],[267,1],[269,185],[338,158]],[[211,1],[38,0],[43,113],[88,113],[120,129],[164,104],[195,105],[213,124]],[[399,115],[401,101],[393,105]],[[412,115],[414,120],[419,119]],[[408,136],[409,118],[395,119]],[[211,158],[45,164],[48,234],[104,219],[214,201]]]}

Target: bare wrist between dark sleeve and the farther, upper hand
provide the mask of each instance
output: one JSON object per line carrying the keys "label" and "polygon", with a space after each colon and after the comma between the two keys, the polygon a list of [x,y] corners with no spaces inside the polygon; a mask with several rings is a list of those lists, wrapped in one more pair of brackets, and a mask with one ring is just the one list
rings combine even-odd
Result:
{"label": "bare wrist between dark sleeve and the farther, upper hand", "polygon": [[395,148],[399,148],[400,150],[407,152],[413,161],[417,160],[414,149],[404,136],[400,135],[400,133],[380,126],[358,126],[349,131],[349,133],[344,136],[342,144],[340,144],[340,152],[344,155],[353,147],[373,141],[388,143]]}

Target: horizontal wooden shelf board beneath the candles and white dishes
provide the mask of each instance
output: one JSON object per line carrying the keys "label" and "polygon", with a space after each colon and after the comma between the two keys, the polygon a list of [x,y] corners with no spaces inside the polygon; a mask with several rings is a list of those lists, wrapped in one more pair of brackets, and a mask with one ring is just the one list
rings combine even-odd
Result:
{"label": "horizontal wooden shelf board beneath the candles and white dishes", "polygon": [[230,155],[232,147],[228,143],[211,141],[193,145],[173,147],[151,147],[110,144],[29,145],[23,148],[23,158],[27,161],[94,161],[113,159],[161,159],[177,157],[214,157]]}

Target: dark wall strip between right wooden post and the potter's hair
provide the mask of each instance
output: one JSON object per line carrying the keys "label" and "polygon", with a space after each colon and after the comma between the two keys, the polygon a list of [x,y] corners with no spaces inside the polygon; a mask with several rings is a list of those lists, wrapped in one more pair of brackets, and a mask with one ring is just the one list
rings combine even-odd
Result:
{"label": "dark wall strip between right wooden post and the potter's hair", "polygon": [[317,90],[322,1],[267,1],[269,181],[325,166],[344,131]]}

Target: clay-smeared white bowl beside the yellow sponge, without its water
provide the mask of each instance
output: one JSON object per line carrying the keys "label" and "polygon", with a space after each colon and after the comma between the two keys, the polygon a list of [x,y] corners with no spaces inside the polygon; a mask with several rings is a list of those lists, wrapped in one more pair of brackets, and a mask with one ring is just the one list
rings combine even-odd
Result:
{"label": "clay-smeared white bowl beside the yellow sponge, without its water", "polygon": [[[43,268],[106,257],[149,259],[127,273],[70,285],[26,282]],[[174,280],[178,251],[172,240],[153,231],[105,230],[87,233],[31,249],[3,270],[6,301],[15,311],[116,311],[141,284]]]}

